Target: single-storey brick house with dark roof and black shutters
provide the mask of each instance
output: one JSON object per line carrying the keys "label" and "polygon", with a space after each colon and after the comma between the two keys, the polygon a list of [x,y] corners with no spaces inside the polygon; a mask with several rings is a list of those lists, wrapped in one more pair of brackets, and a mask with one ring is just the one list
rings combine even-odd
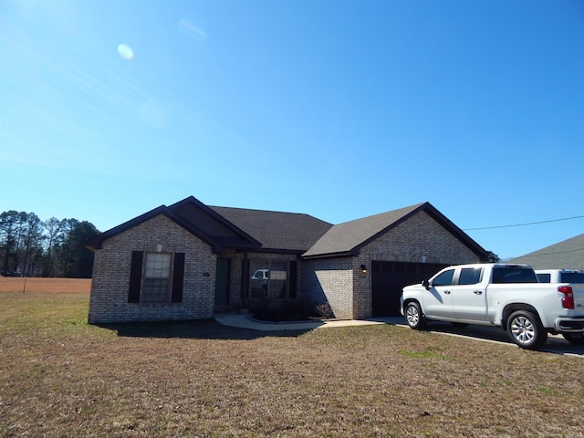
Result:
{"label": "single-storey brick house with dark roof and black shutters", "polygon": [[420,203],[344,224],[193,196],[90,239],[89,323],[212,318],[266,300],[337,318],[399,314],[401,287],[486,251]]}

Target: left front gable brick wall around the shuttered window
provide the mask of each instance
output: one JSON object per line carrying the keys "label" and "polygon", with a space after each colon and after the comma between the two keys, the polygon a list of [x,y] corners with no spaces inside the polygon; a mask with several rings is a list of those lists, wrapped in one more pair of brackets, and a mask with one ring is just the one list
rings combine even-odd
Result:
{"label": "left front gable brick wall around the shuttered window", "polygon": [[[128,303],[132,251],[185,253],[183,302]],[[115,235],[95,251],[89,323],[212,318],[216,255],[163,214]]]}

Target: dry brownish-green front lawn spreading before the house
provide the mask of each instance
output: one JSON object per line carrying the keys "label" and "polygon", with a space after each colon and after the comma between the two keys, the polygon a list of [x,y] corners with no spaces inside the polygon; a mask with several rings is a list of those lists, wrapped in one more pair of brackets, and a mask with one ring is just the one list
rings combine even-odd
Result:
{"label": "dry brownish-green front lawn spreading before the house", "polygon": [[85,293],[0,294],[2,436],[582,436],[579,358],[393,326],[94,327],[87,310]]}

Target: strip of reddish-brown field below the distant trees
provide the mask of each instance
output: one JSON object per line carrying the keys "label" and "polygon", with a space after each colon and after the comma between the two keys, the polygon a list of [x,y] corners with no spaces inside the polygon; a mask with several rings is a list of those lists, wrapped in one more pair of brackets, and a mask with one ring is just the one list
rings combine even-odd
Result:
{"label": "strip of reddish-brown field below the distant trees", "polygon": [[0,293],[67,293],[89,294],[91,290],[90,278],[36,278],[0,276]]}

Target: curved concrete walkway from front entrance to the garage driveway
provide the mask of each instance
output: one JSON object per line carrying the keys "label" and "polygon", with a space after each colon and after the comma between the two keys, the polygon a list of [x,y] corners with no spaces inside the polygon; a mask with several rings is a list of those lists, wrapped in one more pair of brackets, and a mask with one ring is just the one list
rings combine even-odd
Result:
{"label": "curved concrete walkway from front entrance to the garage driveway", "polygon": [[261,331],[279,330],[313,330],[315,328],[334,328],[348,326],[370,326],[374,324],[405,324],[403,317],[395,318],[371,318],[371,319],[330,319],[324,321],[298,321],[298,322],[266,322],[251,318],[249,315],[238,313],[216,313],[215,321],[224,326],[250,328]]}

